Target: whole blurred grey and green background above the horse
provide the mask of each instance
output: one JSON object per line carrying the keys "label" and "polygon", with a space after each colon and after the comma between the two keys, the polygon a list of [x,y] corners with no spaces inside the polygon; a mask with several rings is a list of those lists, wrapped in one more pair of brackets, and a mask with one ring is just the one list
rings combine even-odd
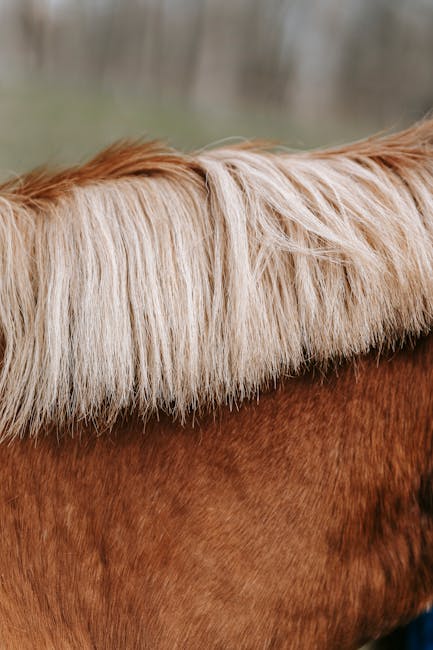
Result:
{"label": "whole blurred grey and green background above the horse", "polygon": [[433,107],[433,0],[0,0],[0,176],[121,137],[296,148]]}

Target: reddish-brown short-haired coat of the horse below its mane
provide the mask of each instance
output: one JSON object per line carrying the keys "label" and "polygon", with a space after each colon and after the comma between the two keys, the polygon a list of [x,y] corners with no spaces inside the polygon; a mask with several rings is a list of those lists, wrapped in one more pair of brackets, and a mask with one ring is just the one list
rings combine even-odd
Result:
{"label": "reddish-brown short-haired coat of the horse below its mane", "polygon": [[194,427],[0,446],[0,645],[354,648],[414,615],[432,385],[430,337]]}

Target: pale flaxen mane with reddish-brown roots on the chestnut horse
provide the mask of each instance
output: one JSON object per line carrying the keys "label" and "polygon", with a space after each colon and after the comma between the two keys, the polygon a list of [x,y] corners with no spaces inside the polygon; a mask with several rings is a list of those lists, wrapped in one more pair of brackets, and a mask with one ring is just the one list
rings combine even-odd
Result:
{"label": "pale flaxen mane with reddish-brown roots on the chestnut horse", "polygon": [[181,420],[433,324],[433,120],[313,152],[120,143],[0,186],[0,431]]}

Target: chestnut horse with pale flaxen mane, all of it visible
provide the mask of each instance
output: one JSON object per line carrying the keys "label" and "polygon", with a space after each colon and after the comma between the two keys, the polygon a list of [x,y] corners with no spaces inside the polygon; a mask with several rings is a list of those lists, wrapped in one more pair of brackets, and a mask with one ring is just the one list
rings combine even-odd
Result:
{"label": "chestnut horse with pale flaxen mane, all of it visible", "polygon": [[433,600],[433,121],[0,187],[0,645],[349,650]]}

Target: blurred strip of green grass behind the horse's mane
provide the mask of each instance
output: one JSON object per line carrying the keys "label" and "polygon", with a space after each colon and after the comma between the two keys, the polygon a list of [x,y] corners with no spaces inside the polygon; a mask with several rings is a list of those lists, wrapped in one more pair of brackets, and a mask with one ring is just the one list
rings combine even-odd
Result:
{"label": "blurred strip of green grass behind the horse's mane", "polygon": [[192,110],[143,96],[31,82],[0,87],[0,176],[80,162],[119,138],[163,138],[181,149],[227,138],[304,148],[366,135],[377,125],[297,123],[275,111]]}

